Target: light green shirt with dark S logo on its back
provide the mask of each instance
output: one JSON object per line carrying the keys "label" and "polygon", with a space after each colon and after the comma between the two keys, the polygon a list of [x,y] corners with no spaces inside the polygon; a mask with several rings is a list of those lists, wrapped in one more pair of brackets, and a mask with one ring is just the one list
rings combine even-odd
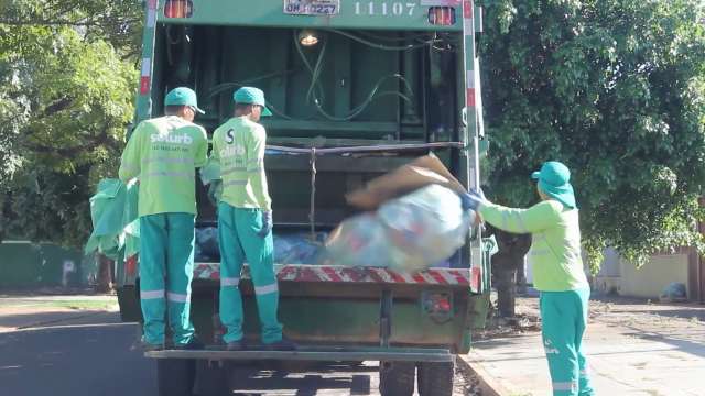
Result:
{"label": "light green shirt with dark S logo on its back", "polygon": [[272,210],[264,174],[264,127],[247,117],[228,120],[213,134],[210,161],[220,166],[220,200],[236,207]]}

